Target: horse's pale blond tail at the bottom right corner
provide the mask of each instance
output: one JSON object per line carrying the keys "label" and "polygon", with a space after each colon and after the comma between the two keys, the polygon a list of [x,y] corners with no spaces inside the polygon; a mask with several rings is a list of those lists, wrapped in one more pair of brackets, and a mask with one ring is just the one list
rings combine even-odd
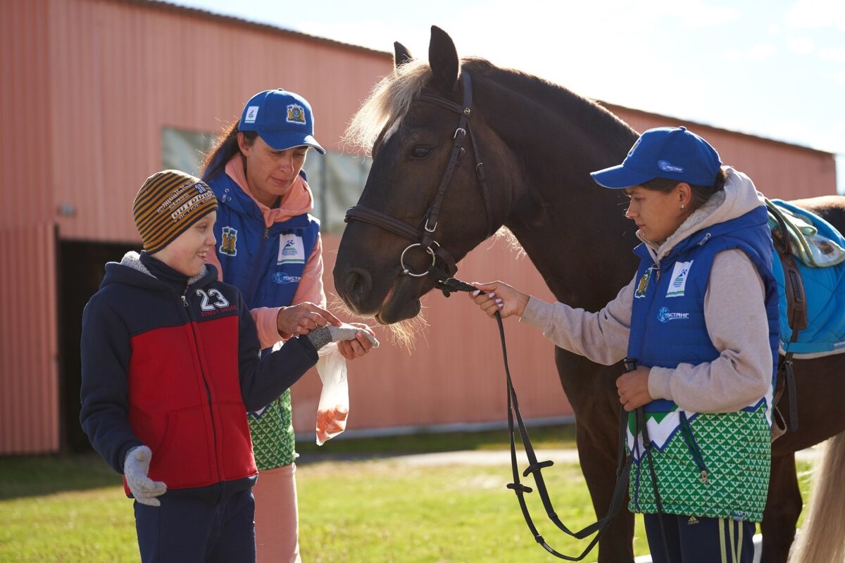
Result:
{"label": "horse's pale blond tail at the bottom right corner", "polygon": [[845,561],[845,432],[821,448],[813,471],[810,512],[796,540],[790,563]]}

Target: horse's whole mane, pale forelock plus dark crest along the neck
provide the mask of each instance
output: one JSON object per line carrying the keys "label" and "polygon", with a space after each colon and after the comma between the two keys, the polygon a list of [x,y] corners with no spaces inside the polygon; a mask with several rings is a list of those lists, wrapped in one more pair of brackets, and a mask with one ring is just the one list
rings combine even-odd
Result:
{"label": "horse's whole mane, pale forelock plus dark crest along the neck", "polygon": [[[515,90],[525,90],[526,82],[533,84],[536,88],[548,90],[548,95],[537,96],[534,103],[539,100],[548,101],[551,96],[555,100],[555,110],[560,111],[562,105],[570,106],[570,116],[575,118],[586,118],[590,120],[589,127],[594,128],[601,124],[608,127],[608,132],[624,127],[633,133],[627,123],[613,115],[611,111],[584,96],[577,95],[570,89],[559,84],[553,84],[543,78],[532,74],[524,73],[513,68],[499,68],[492,62],[480,57],[465,57],[461,59],[461,67],[471,70],[473,75],[490,76],[499,75],[500,84],[508,84],[507,87]],[[368,152],[373,148],[373,143],[379,138],[384,127],[390,127],[384,132],[385,137],[401,125],[402,119],[406,116],[413,100],[419,95],[423,88],[431,81],[432,71],[428,61],[424,59],[413,59],[395,68],[393,73],[381,78],[367,99],[352,116],[343,142],[353,148],[363,149]],[[597,118],[599,123],[597,123]]]}

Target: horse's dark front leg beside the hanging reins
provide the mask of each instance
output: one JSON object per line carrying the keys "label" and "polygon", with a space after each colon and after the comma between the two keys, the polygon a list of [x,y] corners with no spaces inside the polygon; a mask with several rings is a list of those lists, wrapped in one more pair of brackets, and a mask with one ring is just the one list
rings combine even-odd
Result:
{"label": "horse's dark front leg beside the hanging reins", "polygon": [[[613,382],[621,373],[616,366],[596,365],[557,349],[555,360],[564,392],[575,411],[575,432],[581,472],[590,490],[597,518],[608,513],[616,483],[619,447],[619,397]],[[632,563],[634,515],[624,506],[598,542],[599,563]]]}

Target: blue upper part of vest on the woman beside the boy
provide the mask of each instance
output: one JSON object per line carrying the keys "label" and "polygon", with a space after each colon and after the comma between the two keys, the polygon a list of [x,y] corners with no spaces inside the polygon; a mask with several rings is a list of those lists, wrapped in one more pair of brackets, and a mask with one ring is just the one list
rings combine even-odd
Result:
{"label": "blue upper part of vest on the woman beside the boy", "polygon": [[214,227],[223,281],[236,285],[250,309],[289,306],[319,235],[319,221],[297,215],[264,228],[264,217],[225,173],[208,181],[219,203]]}

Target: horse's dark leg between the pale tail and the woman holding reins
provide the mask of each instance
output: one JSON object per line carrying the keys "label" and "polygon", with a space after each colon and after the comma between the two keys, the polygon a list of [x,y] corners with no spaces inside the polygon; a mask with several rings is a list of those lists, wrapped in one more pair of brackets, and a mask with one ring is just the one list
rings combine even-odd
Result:
{"label": "horse's dark leg between the pale tail and the woman holding reins", "polygon": [[795,472],[795,455],[771,457],[769,496],[760,529],[763,552],[760,563],[786,563],[801,514],[801,491]]}

